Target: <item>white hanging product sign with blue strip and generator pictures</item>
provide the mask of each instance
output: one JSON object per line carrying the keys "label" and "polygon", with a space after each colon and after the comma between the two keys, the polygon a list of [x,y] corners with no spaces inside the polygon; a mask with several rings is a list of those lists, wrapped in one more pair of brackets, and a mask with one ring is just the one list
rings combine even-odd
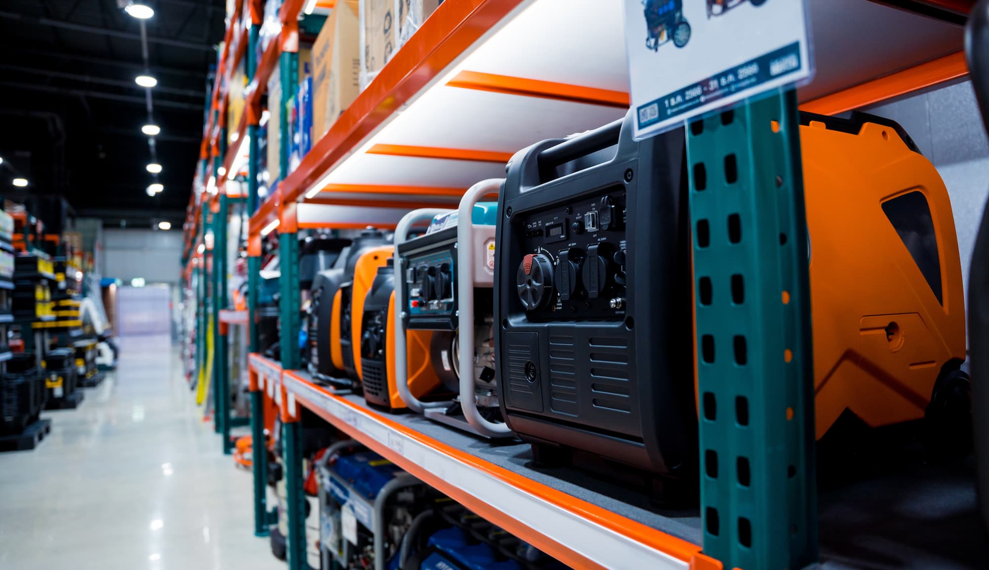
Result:
{"label": "white hanging product sign with blue strip and generator pictures", "polygon": [[805,0],[625,0],[636,140],[813,73]]}

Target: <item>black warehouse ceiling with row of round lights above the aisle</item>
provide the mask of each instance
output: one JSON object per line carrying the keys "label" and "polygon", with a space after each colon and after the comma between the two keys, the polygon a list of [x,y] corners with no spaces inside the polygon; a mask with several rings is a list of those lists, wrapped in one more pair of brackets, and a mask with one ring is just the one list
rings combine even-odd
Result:
{"label": "black warehouse ceiling with row of round lights above the aisle", "polygon": [[[125,2],[126,3],[126,2]],[[143,0],[164,192],[152,176],[140,28],[118,0],[0,2],[0,195],[63,194],[79,215],[180,222],[203,133],[207,73],[223,39],[225,0]]]}

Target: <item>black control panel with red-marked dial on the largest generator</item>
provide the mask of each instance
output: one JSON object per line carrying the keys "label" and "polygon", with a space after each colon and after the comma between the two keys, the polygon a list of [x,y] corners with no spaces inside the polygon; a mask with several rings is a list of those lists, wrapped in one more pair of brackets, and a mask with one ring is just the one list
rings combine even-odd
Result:
{"label": "black control panel with red-marked dial on the largest generator", "polygon": [[621,320],[627,310],[625,189],[520,214],[519,301],[532,321]]}

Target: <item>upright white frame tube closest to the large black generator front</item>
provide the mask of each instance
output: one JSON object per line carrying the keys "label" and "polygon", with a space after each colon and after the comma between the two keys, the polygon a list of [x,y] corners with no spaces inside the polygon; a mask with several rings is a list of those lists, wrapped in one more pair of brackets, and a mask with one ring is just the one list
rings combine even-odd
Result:
{"label": "upright white frame tube closest to the large black generator front", "polygon": [[[497,194],[504,178],[482,180],[460,199],[457,214],[457,304],[460,336],[460,407],[467,423],[487,437],[505,437],[512,431],[501,423],[489,422],[478,412],[474,381],[474,205],[488,194]],[[500,212],[498,212],[500,214]],[[405,220],[403,220],[405,222]],[[494,324],[497,327],[497,323]]]}

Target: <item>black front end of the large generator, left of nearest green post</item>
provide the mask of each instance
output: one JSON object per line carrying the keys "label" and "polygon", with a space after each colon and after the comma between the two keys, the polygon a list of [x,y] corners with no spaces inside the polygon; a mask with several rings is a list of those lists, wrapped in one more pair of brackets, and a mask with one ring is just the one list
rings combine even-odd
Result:
{"label": "black front end of the large generator, left of nearest green post", "polygon": [[495,369],[504,420],[537,464],[584,450],[655,474],[662,492],[697,464],[684,139],[635,142],[632,121],[508,163]]}

